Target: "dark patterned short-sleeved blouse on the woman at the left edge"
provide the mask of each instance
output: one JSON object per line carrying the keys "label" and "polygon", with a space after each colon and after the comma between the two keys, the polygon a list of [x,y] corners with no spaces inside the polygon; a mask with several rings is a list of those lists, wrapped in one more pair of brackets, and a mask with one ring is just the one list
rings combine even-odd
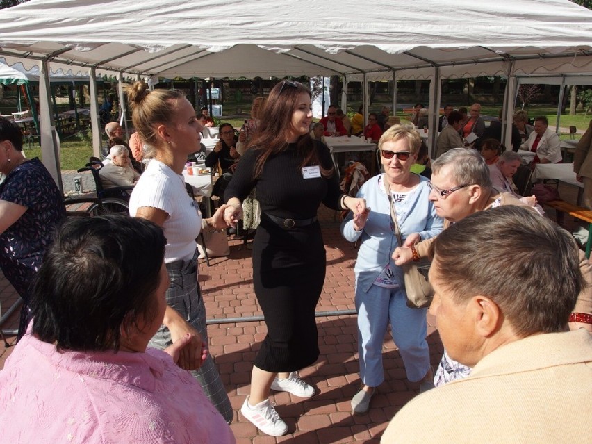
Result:
{"label": "dark patterned short-sleeved blouse on the woman at the left edge", "polygon": [[25,161],[0,185],[0,200],[25,206],[25,213],[0,234],[0,268],[25,301],[54,229],[65,217],[64,198],[38,158]]}

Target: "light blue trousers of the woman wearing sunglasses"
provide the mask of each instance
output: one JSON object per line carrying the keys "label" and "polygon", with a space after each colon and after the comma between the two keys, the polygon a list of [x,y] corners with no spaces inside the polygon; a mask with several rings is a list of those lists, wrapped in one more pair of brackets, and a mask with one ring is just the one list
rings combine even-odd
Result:
{"label": "light blue trousers of the woman wearing sunglasses", "polygon": [[403,359],[407,379],[420,381],[429,370],[427,309],[410,309],[399,288],[373,285],[368,293],[356,288],[358,352],[363,384],[377,387],[384,381],[382,344],[390,322],[393,340]]}

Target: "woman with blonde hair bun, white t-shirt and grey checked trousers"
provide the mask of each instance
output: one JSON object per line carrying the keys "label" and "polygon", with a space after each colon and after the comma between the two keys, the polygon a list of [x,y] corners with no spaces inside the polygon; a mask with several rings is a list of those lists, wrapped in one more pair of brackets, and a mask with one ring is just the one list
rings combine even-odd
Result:
{"label": "woman with blonde hair bun, white t-shirt and grey checked trousers", "polygon": [[[179,91],[149,91],[143,81],[127,89],[135,130],[152,158],[135,186],[129,213],[163,227],[167,246],[165,265],[170,279],[163,325],[149,345],[164,349],[179,338],[190,335],[179,365],[192,370],[204,392],[227,422],[232,407],[215,363],[207,353],[206,308],[197,282],[197,245],[199,231],[227,228],[223,213],[202,219],[199,206],[187,195],[183,167],[188,154],[199,149],[195,110]],[[196,370],[199,369],[199,370]]]}

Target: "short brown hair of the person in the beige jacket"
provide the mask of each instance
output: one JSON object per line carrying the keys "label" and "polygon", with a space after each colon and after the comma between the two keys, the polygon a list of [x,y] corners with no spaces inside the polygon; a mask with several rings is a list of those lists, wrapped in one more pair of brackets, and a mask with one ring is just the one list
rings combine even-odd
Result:
{"label": "short brown hair of the person in the beige jacket", "polygon": [[432,266],[454,301],[492,299],[520,337],[564,330],[585,285],[570,233],[523,206],[473,213],[432,248]]}

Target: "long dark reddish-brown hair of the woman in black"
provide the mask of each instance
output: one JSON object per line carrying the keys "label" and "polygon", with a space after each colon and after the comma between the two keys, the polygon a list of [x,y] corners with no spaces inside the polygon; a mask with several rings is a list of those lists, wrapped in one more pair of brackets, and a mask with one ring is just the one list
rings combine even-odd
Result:
{"label": "long dark reddish-brown hair of the woman in black", "polygon": [[[311,92],[304,85],[293,81],[281,81],[271,90],[263,108],[261,124],[249,143],[249,148],[261,151],[255,165],[255,177],[261,175],[263,166],[270,156],[288,148],[286,140],[292,129],[292,115],[298,104],[298,97],[303,92],[311,97]],[[300,167],[320,165],[322,176],[330,177],[333,174],[333,167],[324,168],[320,164],[318,149],[309,133],[298,138],[296,149],[304,158]]]}

